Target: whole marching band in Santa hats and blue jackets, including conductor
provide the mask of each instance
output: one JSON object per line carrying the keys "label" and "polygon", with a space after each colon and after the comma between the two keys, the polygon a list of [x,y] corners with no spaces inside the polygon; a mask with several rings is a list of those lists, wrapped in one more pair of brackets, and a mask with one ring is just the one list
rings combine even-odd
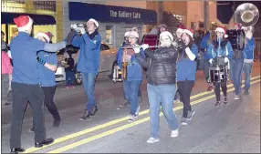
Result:
{"label": "whole marching band in Santa hats and blue jackets, including conductor", "polygon": [[[98,32],[99,23],[89,19],[86,27],[71,26],[67,38],[57,44],[49,44],[50,36],[39,32],[36,38],[31,37],[33,20],[27,15],[20,15],[14,19],[18,27],[18,36],[10,44],[13,60],[13,118],[11,122],[10,148],[12,152],[21,152],[22,120],[26,104],[29,102],[34,118],[35,147],[39,148],[51,144],[54,139],[47,139],[43,103],[54,117],[54,127],[61,121],[57,107],[53,101],[56,82],[57,55],[59,49],[68,44],[79,48],[78,71],[81,73],[83,87],[88,97],[87,106],[81,120],[87,120],[99,110],[94,96],[95,81],[99,72],[99,51],[101,36]],[[225,56],[224,61],[230,63],[231,79],[235,87],[235,99],[238,99],[241,87],[241,73],[245,72],[245,94],[249,93],[250,76],[253,67],[255,39],[251,30],[245,30],[245,48],[235,57],[235,51],[226,39],[225,28],[215,29],[216,37],[207,42],[209,35],[205,35],[200,46],[194,43],[193,30],[180,26],[176,31],[177,38],[168,31],[167,26],[159,26],[159,47],[151,50],[149,45],[140,46],[139,33],[136,28],[126,32],[124,43],[120,46],[117,58],[117,68],[121,69],[122,62],[127,62],[127,79],[123,81],[123,95],[130,103],[129,121],[139,116],[139,98],[141,97],[142,68],[146,68],[147,92],[150,104],[151,137],[148,143],[160,141],[159,113],[162,112],[171,128],[171,137],[179,134],[179,122],[173,108],[173,98],[178,91],[183,102],[182,125],[188,125],[195,111],[190,102],[193,85],[196,80],[196,60],[198,49],[204,49],[208,58],[206,67],[211,66],[216,56]],[[131,46],[127,54],[122,47]],[[2,55],[3,55],[2,51]],[[6,52],[5,52],[6,53]],[[4,54],[5,54],[4,53]],[[26,56],[25,56],[26,55]],[[23,58],[21,58],[23,57]],[[37,58],[36,58],[37,57]],[[205,62],[206,63],[206,62]],[[10,65],[9,63],[7,65]],[[2,65],[3,67],[3,65]],[[206,74],[206,71],[204,71]],[[6,74],[10,74],[10,71]],[[209,77],[205,76],[209,81]],[[224,92],[224,103],[227,100],[226,82],[214,83],[216,96],[215,106],[220,105],[220,86]]]}

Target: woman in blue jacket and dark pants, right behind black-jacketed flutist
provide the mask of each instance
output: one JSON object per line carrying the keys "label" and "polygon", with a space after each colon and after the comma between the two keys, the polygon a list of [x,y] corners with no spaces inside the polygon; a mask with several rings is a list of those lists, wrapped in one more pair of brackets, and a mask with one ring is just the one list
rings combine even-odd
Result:
{"label": "woman in blue jacket and dark pants, right behind black-jacketed flutist", "polygon": [[183,100],[182,125],[187,125],[193,118],[194,110],[191,107],[190,97],[195,82],[196,56],[198,47],[193,43],[193,30],[184,29],[182,35],[182,49],[177,60],[177,81],[181,100]]}

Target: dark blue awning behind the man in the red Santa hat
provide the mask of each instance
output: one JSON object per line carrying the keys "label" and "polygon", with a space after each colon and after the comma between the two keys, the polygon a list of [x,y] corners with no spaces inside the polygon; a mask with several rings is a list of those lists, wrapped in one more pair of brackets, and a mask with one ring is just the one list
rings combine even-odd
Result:
{"label": "dark blue awning behind the man in the red Santa hat", "polygon": [[56,25],[56,19],[52,15],[1,13],[1,24],[15,24],[14,18],[18,15],[29,15],[34,20],[34,25]]}

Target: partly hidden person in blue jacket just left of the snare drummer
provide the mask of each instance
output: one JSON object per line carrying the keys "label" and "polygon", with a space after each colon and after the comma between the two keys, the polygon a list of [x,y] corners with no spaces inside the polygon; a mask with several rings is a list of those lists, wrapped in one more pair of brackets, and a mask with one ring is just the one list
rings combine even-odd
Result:
{"label": "partly hidden person in blue jacket just left of the snare drummer", "polygon": [[209,78],[209,59],[207,56],[207,48],[210,44],[210,36],[211,33],[209,31],[206,32],[206,34],[204,35],[201,43],[200,43],[200,49],[204,50],[204,78],[206,80],[206,82],[208,83],[208,87],[207,87],[207,91],[212,91],[213,89],[213,85],[210,82],[210,78]]}

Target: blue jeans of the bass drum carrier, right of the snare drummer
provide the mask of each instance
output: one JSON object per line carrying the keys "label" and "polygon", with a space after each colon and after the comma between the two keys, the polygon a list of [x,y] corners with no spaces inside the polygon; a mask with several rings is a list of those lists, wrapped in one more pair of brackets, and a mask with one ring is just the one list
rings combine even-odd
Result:
{"label": "blue jeans of the bass drum carrier, right of the snare drummer", "polygon": [[235,87],[235,95],[241,93],[242,71],[244,66],[244,59],[231,59],[230,60],[230,78]]}

